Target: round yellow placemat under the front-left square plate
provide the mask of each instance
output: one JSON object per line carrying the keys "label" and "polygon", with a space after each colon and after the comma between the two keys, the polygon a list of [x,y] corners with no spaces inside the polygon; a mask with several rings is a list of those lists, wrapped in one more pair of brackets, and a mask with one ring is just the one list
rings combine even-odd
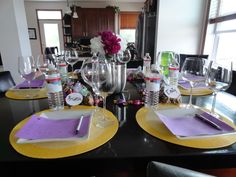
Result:
{"label": "round yellow placemat under the front-left square plate", "polygon": [[[77,106],[72,109],[91,109],[91,106]],[[13,128],[9,136],[10,144],[18,153],[33,158],[52,159],[82,154],[105,144],[116,134],[119,126],[117,118],[108,110],[104,110],[104,113],[109,120],[113,121],[112,124],[105,128],[96,127],[93,117],[90,135],[86,140],[17,144],[15,134],[28,121],[30,118],[28,117]]]}

